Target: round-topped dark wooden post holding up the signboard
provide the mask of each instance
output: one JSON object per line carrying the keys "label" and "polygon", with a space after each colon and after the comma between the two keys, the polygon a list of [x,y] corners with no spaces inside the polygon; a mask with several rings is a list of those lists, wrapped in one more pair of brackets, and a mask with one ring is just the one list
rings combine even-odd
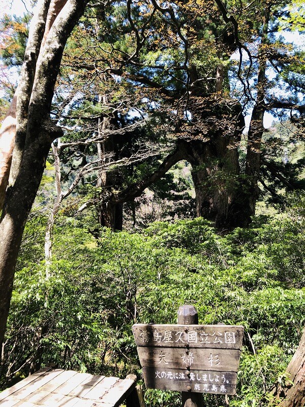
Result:
{"label": "round-topped dark wooden post holding up the signboard", "polygon": [[[179,325],[198,325],[198,312],[193,305],[181,305],[178,309]],[[191,388],[190,388],[191,390]],[[203,407],[202,394],[181,392],[182,407]]]}

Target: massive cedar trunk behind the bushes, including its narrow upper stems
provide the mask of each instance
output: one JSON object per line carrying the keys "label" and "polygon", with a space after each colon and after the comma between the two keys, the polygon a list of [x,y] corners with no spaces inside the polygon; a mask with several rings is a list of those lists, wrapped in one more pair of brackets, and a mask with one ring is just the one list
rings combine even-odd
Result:
{"label": "massive cedar trunk behind the bushes, including its narrow upper stems", "polygon": [[237,151],[245,121],[240,104],[223,96],[225,72],[221,61],[227,56],[220,51],[218,57],[213,97],[203,98],[202,89],[194,86],[199,77],[196,67],[191,66],[190,110],[199,126],[193,139],[184,142],[184,158],[192,165],[197,216],[215,222],[220,230],[230,230],[250,222],[243,209]]}

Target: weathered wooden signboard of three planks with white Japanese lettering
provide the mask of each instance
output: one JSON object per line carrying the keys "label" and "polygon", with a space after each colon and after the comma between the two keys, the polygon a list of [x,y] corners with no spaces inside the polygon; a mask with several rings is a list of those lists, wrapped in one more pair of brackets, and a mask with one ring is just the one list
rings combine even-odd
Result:
{"label": "weathered wooden signboard of three planks with white Japanese lettering", "polygon": [[235,394],[242,326],[135,324],[147,388]]}

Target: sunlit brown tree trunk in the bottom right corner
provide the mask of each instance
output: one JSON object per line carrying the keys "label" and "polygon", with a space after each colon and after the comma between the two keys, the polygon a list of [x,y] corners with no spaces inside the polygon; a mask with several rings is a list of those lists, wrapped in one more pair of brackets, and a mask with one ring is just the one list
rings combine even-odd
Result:
{"label": "sunlit brown tree trunk in the bottom right corner", "polygon": [[303,407],[305,405],[305,329],[293,358],[286,369],[287,379],[277,383],[271,390],[272,405],[279,407]]}

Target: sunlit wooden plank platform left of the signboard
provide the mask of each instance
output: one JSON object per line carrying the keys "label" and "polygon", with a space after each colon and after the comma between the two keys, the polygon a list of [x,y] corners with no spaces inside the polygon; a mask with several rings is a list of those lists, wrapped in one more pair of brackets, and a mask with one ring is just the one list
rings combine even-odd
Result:
{"label": "sunlit wooden plank platform left of the signboard", "polygon": [[126,398],[135,397],[135,376],[131,377],[44,368],[0,393],[0,406],[117,407]]}

